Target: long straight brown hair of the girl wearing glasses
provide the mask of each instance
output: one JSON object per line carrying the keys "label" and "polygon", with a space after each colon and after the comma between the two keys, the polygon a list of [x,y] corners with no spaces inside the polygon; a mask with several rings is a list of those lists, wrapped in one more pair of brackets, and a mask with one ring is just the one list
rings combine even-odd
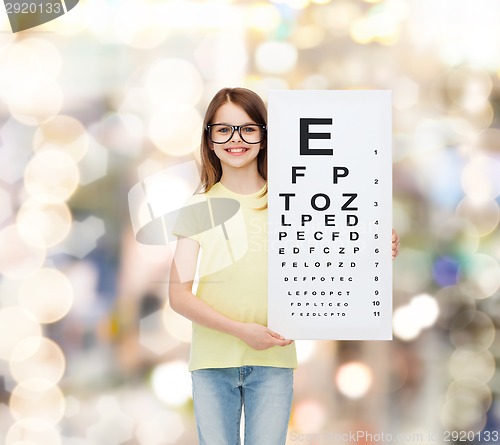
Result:
{"label": "long straight brown hair of the girl wearing glasses", "polygon": [[[203,134],[201,136],[201,182],[205,192],[220,181],[222,167],[219,158],[210,148],[207,125],[213,123],[217,110],[227,102],[232,102],[241,107],[256,123],[267,126],[267,110],[264,101],[257,93],[246,88],[223,88],[210,101],[203,121]],[[261,142],[261,149],[257,156],[259,174],[267,180],[267,137]]]}

